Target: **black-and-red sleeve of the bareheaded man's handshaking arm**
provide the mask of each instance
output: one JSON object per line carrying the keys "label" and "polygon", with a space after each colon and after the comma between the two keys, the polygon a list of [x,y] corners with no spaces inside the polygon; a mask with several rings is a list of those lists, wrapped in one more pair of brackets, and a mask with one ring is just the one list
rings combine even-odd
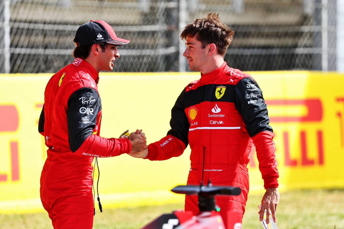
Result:
{"label": "black-and-red sleeve of the bareheaded man's handshaking arm", "polygon": [[189,121],[184,111],[185,88],[177,98],[171,110],[171,129],[167,136],[161,140],[148,145],[148,155],[144,159],[167,160],[171,157],[178,157],[183,154],[189,144]]}

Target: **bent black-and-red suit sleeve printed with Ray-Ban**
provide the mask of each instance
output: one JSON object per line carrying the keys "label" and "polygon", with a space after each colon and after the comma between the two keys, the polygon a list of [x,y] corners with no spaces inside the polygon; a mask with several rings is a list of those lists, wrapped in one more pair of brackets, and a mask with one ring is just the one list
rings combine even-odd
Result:
{"label": "bent black-and-red suit sleeve printed with Ray-Ban", "polygon": [[73,92],[67,102],[68,142],[76,155],[113,157],[129,153],[131,143],[126,138],[105,138],[93,134],[101,110],[98,92],[83,87]]}

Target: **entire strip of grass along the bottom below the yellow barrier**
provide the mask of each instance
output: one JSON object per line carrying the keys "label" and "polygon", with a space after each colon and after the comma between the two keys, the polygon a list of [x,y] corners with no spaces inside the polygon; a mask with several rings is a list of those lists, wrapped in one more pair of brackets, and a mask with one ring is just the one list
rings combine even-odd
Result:
{"label": "entire strip of grass along the bottom below the yellow barrier", "polygon": [[[258,220],[261,195],[250,194],[243,219],[244,229],[262,229]],[[344,228],[344,190],[297,190],[281,193],[277,207],[279,229]],[[162,213],[183,204],[103,209],[96,213],[94,229],[138,229]],[[0,229],[52,228],[46,213],[0,215]]]}

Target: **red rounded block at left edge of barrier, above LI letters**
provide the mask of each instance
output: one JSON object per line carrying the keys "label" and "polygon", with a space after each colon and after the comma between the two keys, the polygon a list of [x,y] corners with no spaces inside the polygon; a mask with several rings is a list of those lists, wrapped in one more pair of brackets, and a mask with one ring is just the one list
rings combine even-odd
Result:
{"label": "red rounded block at left edge of barrier, above LI letters", "polygon": [[0,132],[16,131],[19,124],[18,110],[14,105],[0,106]]}

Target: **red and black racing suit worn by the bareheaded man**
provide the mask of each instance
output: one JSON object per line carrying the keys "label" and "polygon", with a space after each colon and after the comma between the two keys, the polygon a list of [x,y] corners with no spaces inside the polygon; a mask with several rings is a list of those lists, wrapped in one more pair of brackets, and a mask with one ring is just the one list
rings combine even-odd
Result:
{"label": "red and black racing suit worn by the bareheaded man", "polygon": [[[216,196],[226,223],[227,210],[245,212],[252,140],[265,188],[278,187],[275,143],[267,106],[258,84],[226,62],[187,85],[171,111],[171,130],[149,144],[145,159],[166,160],[191,148],[187,184],[230,185],[239,196]],[[198,212],[197,196],[185,196],[185,210]],[[225,224],[226,225],[226,224]]]}

